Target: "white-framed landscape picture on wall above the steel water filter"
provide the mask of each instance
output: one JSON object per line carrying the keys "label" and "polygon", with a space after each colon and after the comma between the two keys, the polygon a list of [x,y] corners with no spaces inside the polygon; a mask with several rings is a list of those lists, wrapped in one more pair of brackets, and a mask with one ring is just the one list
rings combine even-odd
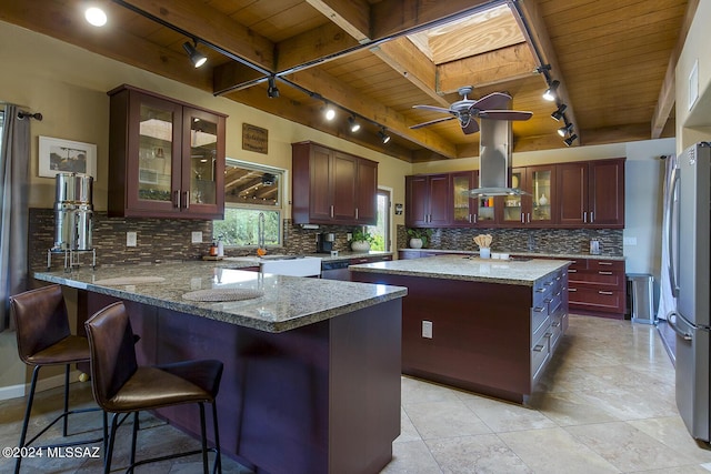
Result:
{"label": "white-framed landscape picture on wall above the steel water filter", "polygon": [[57,173],[82,173],[97,180],[97,145],[71,140],[40,137],[39,175],[54,178]]}

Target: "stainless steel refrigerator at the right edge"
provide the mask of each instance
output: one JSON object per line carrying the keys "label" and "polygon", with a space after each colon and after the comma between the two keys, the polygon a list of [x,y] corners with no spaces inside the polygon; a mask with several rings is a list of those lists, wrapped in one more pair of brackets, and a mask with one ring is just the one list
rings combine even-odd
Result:
{"label": "stainless steel refrigerator at the right edge", "polygon": [[711,399],[711,148],[697,143],[678,158],[672,173],[669,274],[675,309],[668,315],[677,333],[677,407],[689,433],[710,440]]}

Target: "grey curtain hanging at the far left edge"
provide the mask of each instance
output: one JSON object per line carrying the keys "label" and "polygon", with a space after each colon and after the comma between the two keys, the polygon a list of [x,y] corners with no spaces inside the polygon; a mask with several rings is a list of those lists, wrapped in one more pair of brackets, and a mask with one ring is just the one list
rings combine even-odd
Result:
{"label": "grey curtain hanging at the far left edge", "polygon": [[0,143],[0,331],[10,327],[9,296],[28,288],[30,120],[6,105]]}

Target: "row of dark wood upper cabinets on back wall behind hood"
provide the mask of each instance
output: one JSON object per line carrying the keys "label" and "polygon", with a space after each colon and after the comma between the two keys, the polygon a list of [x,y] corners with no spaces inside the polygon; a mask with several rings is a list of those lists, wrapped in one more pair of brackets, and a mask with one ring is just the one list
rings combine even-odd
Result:
{"label": "row of dark wood upper cabinets on back wall behind hood", "polygon": [[410,228],[624,228],[624,159],[512,170],[524,193],[469,199],[475,171],[405,177]]}

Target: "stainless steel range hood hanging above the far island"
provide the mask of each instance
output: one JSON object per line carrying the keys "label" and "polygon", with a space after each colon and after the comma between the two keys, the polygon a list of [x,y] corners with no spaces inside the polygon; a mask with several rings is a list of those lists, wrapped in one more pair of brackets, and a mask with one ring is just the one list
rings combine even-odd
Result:
{"label": "stainless steel range hood hanging above the far island", "polygon": [[479,188],[470,190],[471,198],[525,194],[511,186],[511,122],[480,119]]}

